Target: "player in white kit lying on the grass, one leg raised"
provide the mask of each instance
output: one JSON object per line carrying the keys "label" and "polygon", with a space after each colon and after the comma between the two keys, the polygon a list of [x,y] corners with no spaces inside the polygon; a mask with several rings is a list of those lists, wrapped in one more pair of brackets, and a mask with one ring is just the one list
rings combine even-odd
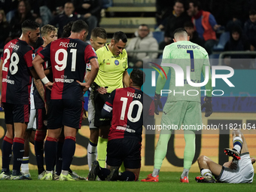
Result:
{"label": "player in white kit lying on the grass, one leg raised", "polygon": [[255,159],[250,157],[248,146],[245,137],[239,130],[233,131],[233,149],[225,148],[224,152],[233,157],[223,164],[213,162],[209,157],[204,155],[197,159],[198,166],[202,176],[197,176],[195,179],[200,183],[215,183],[217,181],[226,183],[251,183],[254,177]]}

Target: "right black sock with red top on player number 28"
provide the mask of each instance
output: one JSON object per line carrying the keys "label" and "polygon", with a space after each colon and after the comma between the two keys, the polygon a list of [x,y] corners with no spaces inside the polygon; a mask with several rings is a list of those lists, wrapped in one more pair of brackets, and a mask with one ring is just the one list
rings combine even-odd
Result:
{"label": "right black sock with red top on player number 28", "polygon": [[24,139],[14,138],[13,153],[14,153],[14,166],[13,175],[20,175],[20,166],[23,161],[24,154]]}

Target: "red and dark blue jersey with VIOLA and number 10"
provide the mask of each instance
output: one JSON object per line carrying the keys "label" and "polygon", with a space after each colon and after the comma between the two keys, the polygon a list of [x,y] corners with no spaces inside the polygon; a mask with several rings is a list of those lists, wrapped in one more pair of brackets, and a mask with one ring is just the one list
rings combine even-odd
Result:
{"label": "red and dark blue jersey with VIOLA and number 10", "polygon": [[154,118],[153,99],[133,87],[114,90],[103,108],[112,111],[108,141],[130,138],[142,142],[143,120]]}

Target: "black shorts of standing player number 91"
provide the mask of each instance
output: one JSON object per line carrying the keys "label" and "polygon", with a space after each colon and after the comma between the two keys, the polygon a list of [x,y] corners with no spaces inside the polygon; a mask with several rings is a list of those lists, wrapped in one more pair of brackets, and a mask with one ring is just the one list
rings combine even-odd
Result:
{"label": "black shorts of standing player number 91", "polygon": [[50,99],[47,114],[47,129],[56,130],[62,126],[81,128],[84,101],[80,99]]}

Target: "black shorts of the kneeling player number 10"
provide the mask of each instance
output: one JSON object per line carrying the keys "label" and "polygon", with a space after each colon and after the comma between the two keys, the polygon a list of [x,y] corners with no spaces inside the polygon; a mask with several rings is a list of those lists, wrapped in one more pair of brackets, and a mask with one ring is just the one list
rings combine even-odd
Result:
{"label": "black shorts of the kneeling player number 10", "polygon": [[107,164],[108,166],[121,166],[127,169],[141,167],[142,144],[136,139],[112,139],[108,141]]}

